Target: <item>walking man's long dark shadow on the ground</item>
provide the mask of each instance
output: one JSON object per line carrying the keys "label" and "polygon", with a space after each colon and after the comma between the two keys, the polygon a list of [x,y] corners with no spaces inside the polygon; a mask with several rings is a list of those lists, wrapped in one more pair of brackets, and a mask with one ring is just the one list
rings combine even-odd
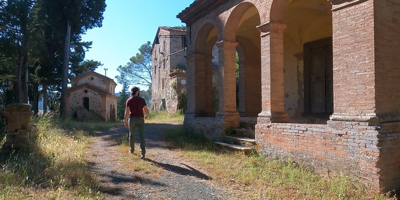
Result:
{"label": "walking man's long dark shadow on the ground", "polygon": [[149,159],[149,158],[146,158],[146,161],[149,161],[149,162],[153,163],[154,165],[156,165],[156,166],[158,166],[160,168],[163,168],[165,170],[168,170],[168,171],[171,171],[171,172],[174,172],[174,173],[178,173],[178,174],[181,174],[181,175],[195,176],[197,178],[204,179],[204,180],[211,180],[212,179],[208,175],[206,175],[204,173],[201,173],[197,169],[195,169],[195,168],[193,168],[193,167],[191,167],[191,166],[189,166],[187,164],[180,163],[180,164],[183,164],[186,167],[188,167],[188,169],[180,167],[180,166],[175,166],[175,165],[172,165],[172,164],[166,164],[166,163],[157,162],[157,161]]}

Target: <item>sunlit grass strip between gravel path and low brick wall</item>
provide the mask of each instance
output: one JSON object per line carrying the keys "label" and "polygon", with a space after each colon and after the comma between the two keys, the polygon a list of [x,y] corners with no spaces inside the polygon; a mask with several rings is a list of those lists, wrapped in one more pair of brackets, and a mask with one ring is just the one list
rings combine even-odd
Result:
{"label": "sunlit grass strip between gravel path and low brick wall", "polygon": [[178,127],[167,138],[184,159],[207,171],[215,184],[227,187],[239,199],[395,199],[339,174],[321,177],[287,158],[285,162],[260,155],[216,149],[201,135]]}

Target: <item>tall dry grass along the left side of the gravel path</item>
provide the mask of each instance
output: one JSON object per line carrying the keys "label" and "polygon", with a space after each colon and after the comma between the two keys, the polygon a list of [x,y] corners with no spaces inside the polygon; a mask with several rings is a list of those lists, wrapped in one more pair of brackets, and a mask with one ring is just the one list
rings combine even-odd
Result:
{"label": "tall dry grass along the left side of the gravel path", "polygon": [[101,199],[85,151],[92,131],[113,123],[61,121],[51,112],[33,119],[34,141],[0,150],[0,199]]}

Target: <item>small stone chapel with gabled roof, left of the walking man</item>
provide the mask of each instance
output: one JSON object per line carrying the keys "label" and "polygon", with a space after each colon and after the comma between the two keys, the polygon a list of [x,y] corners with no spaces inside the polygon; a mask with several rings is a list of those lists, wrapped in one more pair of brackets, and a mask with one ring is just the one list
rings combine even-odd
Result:
{"label": "small stone chapel with gabled roof, left of the walking man", "polygon": [[67,90],[67,115],[78,120],[115,120],[118,97],[113,79],[95,71],[71,78]]}

